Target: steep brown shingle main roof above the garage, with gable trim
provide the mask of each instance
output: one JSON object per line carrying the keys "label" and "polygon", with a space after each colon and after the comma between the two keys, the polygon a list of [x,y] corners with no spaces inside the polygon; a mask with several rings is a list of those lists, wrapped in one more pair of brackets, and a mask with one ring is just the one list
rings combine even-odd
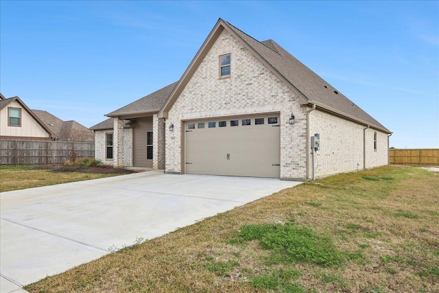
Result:
{"label": "steep brown shingle main roof above the garage, with gable trim", "polygon": [[159,117],[167,117],[167,112],[176,102],[191,76],[195,73],[206,54],[224,30],[235,36],[274,75],[292,89],[299,96],[300,104],[314,104],[318,108],[328,110],[331,113],[353,119],[383,132],[391,133],[390,130],[337,91],[331,84],[324,81],[319,75],[285,51],[274,40],[259,42],[222,19],[217,21],[202,47],[191,61],[191,64],[183,73],[182,78],[158,113]]}

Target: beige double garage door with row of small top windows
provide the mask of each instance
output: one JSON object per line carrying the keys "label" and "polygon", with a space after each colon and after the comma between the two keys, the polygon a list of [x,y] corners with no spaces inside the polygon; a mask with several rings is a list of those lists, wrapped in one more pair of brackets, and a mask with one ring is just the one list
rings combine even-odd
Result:
{"label": "beige double garage door with row of small top windows", "polygon": [[280,177],[278,115],[185,123],[187,174]]}

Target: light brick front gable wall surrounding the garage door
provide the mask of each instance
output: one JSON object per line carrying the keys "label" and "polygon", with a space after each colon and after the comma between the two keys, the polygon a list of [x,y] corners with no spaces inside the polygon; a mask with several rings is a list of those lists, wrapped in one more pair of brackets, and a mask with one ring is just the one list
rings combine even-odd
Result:
{"label": "light brick front gable wall surrounding the garage door", "polygon": [[[219,78],[219,56],[229,54],[230,78]],[[182,121],[224,115],[280,113],[281,178],[306,176],[306,110],[298,97],[232,35],[224,31],[169,110],[166,121],[166,171],[181,173]],[[289,124],[294,113],[296,123]],[[174,124],[174,132],[169,132]]]}

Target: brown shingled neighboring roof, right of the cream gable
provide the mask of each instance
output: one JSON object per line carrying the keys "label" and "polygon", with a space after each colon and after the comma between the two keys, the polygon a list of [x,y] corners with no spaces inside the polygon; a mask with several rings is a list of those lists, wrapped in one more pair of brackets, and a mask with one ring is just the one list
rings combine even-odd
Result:
{"label": "brown shingled neighboring roof, right of the cream gable", "polygon": [[93,131],[77,121],[62,121],[45,110],[32,110],[60,141],[94,141]]}

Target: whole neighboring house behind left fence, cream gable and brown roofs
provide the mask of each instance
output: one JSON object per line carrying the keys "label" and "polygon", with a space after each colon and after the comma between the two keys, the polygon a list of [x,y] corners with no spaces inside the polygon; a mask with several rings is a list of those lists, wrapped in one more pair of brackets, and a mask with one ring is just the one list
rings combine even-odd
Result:
{"label": "whole neighboring house behind left fence, cream gable and brown roofs", "polygon": [[19,97],[0,94],[0,139],[94,141],[93,131],[76,121],[62,121],[43,110],[31,110]]}

